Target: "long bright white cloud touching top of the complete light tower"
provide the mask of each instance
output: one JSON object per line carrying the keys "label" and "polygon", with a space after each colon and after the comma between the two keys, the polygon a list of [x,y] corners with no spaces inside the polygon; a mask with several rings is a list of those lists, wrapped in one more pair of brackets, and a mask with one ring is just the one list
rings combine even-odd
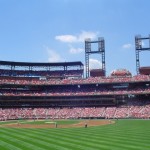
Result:
{"label": "long bright white cloud touching top of the complete light tower", "polygon": [[66,43],[77,43],[77,42],[84,42],[85,39],[91,38],[95,39],[98,35],[98,32],[88,32],[88,31],[82,31],[78,35],[57,35],[55,36],[56,40],[59,40],[61,42],[66,42]]}

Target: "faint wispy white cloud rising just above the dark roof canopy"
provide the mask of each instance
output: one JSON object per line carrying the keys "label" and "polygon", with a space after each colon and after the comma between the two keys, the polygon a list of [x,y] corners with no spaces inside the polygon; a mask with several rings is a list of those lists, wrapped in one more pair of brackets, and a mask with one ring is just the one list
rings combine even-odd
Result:
{"label": "faint wispy white cloud rising just above the dark roof canopy", "polygon": [[48,52],[48,61],[49,62],[62,62],[64,61],[63,58],[61,58],[61,56],[54,51],[53,49],[47,48],[47,52]]}

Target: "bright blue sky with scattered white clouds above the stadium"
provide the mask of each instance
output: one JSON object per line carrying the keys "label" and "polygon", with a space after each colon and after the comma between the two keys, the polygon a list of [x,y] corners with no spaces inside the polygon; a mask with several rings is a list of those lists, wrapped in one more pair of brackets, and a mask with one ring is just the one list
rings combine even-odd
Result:
{"label": "bright blue sky with scattered white clouds above the stadium", "polygon": [[[104,37],[107,75],[118,68],[134,75],[134,37],[150,34],[149,8],[149,0],[0,0],[0,60],[85,63],[84,39]],[[91,55],[91,67],[100,58]],[[140,53],[141,66],[149,58]]]}

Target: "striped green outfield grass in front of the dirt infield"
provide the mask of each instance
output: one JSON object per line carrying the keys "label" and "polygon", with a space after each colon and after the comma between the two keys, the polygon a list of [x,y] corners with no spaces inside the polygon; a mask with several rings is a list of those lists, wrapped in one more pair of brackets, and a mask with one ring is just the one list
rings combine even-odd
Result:
{"label": "striped green outfield grass in front of the dirt infield", "polygon": [[150,150],[150,120],[68,129],[0,127],[0,150]]}

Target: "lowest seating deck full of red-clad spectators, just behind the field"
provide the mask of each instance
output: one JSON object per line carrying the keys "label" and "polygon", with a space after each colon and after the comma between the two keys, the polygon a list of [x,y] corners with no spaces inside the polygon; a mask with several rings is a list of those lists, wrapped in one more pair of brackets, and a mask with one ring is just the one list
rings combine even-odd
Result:
{"label": "lowest seating deck full of red-clad spectators, just behind the field", "polygon": [[150,104],[122,107],[0,108],[0,120],[77,118],[150,118]]}

